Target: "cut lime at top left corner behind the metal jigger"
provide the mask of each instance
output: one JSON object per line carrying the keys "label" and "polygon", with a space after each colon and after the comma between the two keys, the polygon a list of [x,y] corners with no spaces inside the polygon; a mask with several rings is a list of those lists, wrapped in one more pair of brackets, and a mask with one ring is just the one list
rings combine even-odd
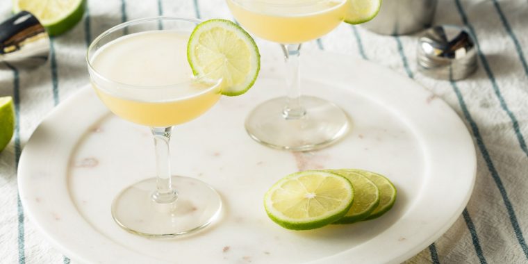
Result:
{"label": "cut lime at top left corner behind the metal jigger", "polygon": [[13,0],[13,12],[26,10],[35,15],[49,35],[72,28],[84,14],[86,0]]}

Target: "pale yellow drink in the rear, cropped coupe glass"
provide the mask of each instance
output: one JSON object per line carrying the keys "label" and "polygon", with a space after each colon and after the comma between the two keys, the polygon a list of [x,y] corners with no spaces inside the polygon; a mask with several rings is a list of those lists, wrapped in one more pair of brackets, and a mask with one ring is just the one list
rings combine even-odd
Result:
{"label": "pale yellow drink in the rear, cropped coupe glass", "polygon": [[343,22],[346,0],[226,0],[242,26],[260,38],[297,44],[320,38]]}

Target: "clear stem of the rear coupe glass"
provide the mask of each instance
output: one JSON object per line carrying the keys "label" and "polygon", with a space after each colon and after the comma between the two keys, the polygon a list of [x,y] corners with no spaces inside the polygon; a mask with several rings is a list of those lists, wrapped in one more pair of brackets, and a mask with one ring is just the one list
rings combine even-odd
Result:
{"label": "clear stem of the rear coupe glass", "polygon": [[283,108],[285,119],[299,119],[306,115],[306,109],[301,101],[301,72],[299,58],[301,55],[301,44],[281,44],[286,62],[286,89],[288,99]]}

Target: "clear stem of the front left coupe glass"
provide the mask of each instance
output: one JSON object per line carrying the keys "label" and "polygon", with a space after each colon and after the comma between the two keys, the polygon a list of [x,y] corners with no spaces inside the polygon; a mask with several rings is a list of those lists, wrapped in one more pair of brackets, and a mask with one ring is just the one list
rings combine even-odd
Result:
{"label": "clear stem of the front left coupe glass", "polygon": [[172,188],[170,174],[170,135],[172,126],[151,128],[156,149],[156,191],[152,199],[160,204],[176,201],[178,194]]}

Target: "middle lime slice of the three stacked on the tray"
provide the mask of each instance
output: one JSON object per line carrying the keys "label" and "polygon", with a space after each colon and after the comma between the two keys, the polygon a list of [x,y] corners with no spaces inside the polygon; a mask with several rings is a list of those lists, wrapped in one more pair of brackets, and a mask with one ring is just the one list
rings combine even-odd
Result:
{"label": "middle lime slice of the three stacked on the tray", "polygon": [[370,179],[367,177],[347,172],[347,170],[331,170],[335,174],[339,174],[347,178],[354,186],[354,203],[349,209],[348,213],[340,220],[333,222],[333,224],[352,224],[359,222],[372,213],[379,204],[379,190]]}

